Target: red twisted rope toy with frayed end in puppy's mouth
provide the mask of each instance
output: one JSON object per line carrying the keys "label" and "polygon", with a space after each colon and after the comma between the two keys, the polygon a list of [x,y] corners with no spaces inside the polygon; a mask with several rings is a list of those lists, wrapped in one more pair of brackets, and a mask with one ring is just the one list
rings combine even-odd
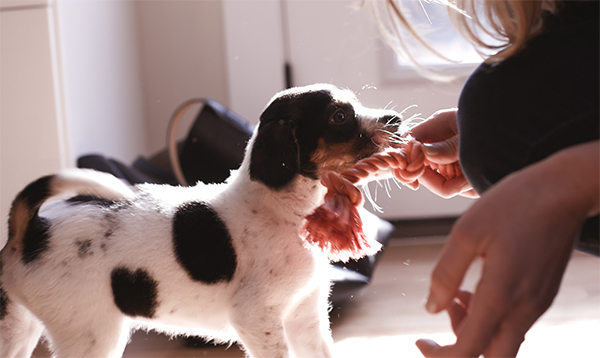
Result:
{"label": "red twisted rope toy with frayed end in puppy's mouth", "polygon": [[423,145],[413,138],[408,138],[385,152],[362,159],[342,173],[324,173],[321,184],[327,188],[325,202],[305,217],[301,236],[309,246],[325,252],[332,261],[346,262],[375,254],[381,249],[381,244],[375,239],[369,239],[363,232],[358,213],[363,197],[355,184],[362,179],[376,178],[381,171],[391,170],[394,177],[404,185],[417,189],[418,179],[426,166],[446,177],[460,174],[457,172],[460,170],[458,165],[450,165],[453,168],[449,169],[447,166],[428,163]]}

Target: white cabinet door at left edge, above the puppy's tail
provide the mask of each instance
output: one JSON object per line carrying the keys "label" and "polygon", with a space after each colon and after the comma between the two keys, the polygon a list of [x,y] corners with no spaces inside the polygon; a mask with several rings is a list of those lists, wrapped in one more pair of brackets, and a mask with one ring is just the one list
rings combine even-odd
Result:
{"label": "white cabinet door at left edge, above the puppy's tail", "polygon": [[0,12],[0,246],[17,192],[64,163],[50,34],[46,7]]}

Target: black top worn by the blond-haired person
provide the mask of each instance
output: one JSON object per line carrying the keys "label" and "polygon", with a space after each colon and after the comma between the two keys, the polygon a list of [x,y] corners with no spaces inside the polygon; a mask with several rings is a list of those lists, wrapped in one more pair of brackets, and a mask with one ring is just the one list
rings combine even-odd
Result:
{"label": "black top worn by the blond-haired person", "polygon": [[[500,64],[482,64],[458,104],[460,160],[483,193],[506,175],[599,137],[598,1],[565,1],[544,31]],[[598,220],[588,224],[595,233]]]}

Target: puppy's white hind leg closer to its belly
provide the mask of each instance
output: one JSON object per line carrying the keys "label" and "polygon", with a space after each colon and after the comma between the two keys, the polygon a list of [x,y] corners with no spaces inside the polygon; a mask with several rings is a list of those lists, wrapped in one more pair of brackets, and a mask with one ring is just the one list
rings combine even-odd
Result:
{"label": "puppy's white hind leg closer to its belly", "polygon": [[116,358],[123,355],[131,333],[129,319],[113,312],[96,312],[95,317],[88,316],[72,324],[46,324],[54,357]]}

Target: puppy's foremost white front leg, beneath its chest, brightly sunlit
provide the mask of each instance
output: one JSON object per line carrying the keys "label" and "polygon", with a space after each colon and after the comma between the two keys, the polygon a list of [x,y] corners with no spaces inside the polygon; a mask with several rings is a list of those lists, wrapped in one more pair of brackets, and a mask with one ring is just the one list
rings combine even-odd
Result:
{"label": "puppy's foremost white front leg, beneath its chest, brightly sunlit", "polygon": [[332,357],[328,295],[328,286],[318,287],[285,317],[285,332],[296,358]]}

